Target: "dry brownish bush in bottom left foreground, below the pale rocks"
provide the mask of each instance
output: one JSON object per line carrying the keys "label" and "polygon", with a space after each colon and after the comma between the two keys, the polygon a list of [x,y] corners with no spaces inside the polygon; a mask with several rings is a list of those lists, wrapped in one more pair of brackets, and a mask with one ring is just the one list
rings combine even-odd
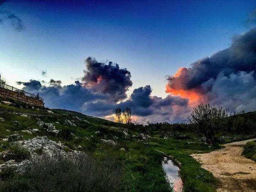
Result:
{"label": "dry brownish bush in bottom left foreground, below the pale rocks", "polygon": [[75,162],[43,157],[22,175],[0,181],[0,191],[120,191],[121,181],[121,167],[112,158],[98,166],[89,156]]}

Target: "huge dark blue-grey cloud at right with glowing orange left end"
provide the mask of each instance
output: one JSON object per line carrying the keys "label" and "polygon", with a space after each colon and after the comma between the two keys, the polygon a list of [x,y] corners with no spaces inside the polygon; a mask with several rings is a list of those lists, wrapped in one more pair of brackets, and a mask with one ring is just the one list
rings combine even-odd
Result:
{"label": "huge dark blue-grey cloud at right with glowing orange left end", "polygon": [[[204,102],[231,111],[239,111],[240,108],[255,110],[248,103],[255,101],[255,69],[256,28],[252,28],[234,36],[229,48],[192,63],[190,68],[180,68],[176,75],[169,76],[166,92],[175,95],[193,91],[203,95]],[[185,94],[183,96],[186,97]]]}

